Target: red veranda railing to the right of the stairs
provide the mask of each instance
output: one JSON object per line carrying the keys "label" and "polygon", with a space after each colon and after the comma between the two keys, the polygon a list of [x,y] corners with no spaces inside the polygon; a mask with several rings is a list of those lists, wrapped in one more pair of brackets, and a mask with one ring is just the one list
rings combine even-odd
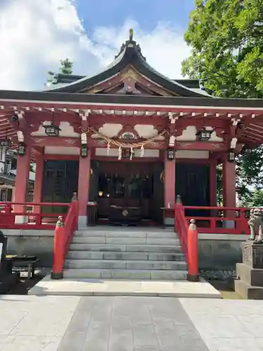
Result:
{"label": "red veranda railing to the right of the stairs", "polygon": [[[248,226],[250,208],[217,206],[182,206],[182,208],[186,220],[191,218],[196,220],[199,233],[250,234]],[[189,210],[193,215],[187,216]],[[194,212],[198,212],[198,216],[194,216]],[[202,213],[205,216],[202,216]]]}

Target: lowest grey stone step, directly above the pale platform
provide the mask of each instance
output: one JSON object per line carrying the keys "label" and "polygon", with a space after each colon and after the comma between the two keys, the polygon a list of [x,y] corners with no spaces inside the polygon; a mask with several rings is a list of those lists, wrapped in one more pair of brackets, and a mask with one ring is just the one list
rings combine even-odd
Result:
{"label": "lowest grey stone step, directly above the pale platform", "polygon": [[187,279],[186,270],[88,270],[66,269],[65,279],[127,279],[127,280],[177,280]]}

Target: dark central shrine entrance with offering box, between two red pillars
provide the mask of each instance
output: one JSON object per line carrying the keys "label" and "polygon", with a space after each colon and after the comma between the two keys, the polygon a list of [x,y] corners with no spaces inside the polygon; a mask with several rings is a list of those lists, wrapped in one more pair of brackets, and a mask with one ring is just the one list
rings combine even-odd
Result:
{"label": "dark central shrine entrance with offering box, between two red pillars", "polygon": [[100,162],[98,168],[99,219],[108,218],[111,222],[152,220],[154,163]]}

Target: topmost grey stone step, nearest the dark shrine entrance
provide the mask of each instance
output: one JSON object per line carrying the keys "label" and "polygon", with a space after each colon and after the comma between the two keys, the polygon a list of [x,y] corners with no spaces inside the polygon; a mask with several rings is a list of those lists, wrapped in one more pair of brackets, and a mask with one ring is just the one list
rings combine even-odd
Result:
{"label": "topmost grey stone step, nearest the dark shrine entrance", "polygon": [[74,237],[130,237],[130,238],[170,238],[177,239],[177,233],[171,230],[160,232],[139,232],[139,231],[98,231],[98,230],[77,230]]}

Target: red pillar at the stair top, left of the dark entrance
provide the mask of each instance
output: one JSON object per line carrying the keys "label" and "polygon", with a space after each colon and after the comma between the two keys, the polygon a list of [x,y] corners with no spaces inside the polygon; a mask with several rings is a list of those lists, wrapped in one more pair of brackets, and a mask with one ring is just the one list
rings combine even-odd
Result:
{"label": "red pillar at the stair top, left of the dark entrance", "polygon": [[79,201],[79,227],[87,225],[87,204],[90,190],[90,149],[88,156],[79,157],[79,183],[78,183],[78,201]]}

